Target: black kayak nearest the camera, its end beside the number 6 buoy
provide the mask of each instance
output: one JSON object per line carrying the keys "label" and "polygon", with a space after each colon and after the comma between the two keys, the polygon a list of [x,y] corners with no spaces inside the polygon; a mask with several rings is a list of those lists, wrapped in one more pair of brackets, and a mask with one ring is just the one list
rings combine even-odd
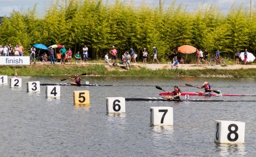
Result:
{"label": "black kayak nearest the camera, its end beside the number 6 buoy", "polygon": [[224,100],[202,100],[202,99],[166,99],[161,97],[125,98],[126,101],[224,101]]}

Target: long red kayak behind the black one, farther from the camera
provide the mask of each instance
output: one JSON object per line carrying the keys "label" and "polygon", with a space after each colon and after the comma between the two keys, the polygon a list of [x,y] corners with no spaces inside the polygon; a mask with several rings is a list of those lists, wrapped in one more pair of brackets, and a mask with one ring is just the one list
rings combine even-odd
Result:
{"label": "long red kayak behind the black one, farther from the camera", "polygon": [[[173,95],[173,93],[167,93],[167,92],[161,92],[159,95]],[[255,95],[244,95],[244,94],[216,94],[216,93],[211,93],[211,94],[201,94],[198,92],[182,92],[182,95],[198,95],[198,96],[255,96]]]}

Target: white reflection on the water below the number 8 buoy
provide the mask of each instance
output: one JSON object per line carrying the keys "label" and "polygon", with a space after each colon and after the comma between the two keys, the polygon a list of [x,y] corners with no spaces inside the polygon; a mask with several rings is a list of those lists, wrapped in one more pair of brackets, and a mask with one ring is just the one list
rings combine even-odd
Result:
{"label": "white reflection on the water below the number 8 buoy", "polygon": [[244,144],[220,144],[216,143],[216,148],[220,156],[246,156]]}

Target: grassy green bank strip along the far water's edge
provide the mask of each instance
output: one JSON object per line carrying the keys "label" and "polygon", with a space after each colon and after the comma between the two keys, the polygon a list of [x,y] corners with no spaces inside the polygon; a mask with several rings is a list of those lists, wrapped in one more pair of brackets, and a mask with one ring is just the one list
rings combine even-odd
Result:
{"label": "grassy green bank strip along the far water's edge", "polygon": [[31,65],[31,66],[2,66],[0,75],[14,76],[17,69],[18,76],[63,76],[74,75],[75,73],[87,73],[87,75],[100,76],[164,76],[164,77],[234,77],[234,78],[255,78],[256,69],[158,69],[157,71],[146,68],[133,68],[126,71],[123,67],[117,66],[114,70],[107,71],[104,65]]}

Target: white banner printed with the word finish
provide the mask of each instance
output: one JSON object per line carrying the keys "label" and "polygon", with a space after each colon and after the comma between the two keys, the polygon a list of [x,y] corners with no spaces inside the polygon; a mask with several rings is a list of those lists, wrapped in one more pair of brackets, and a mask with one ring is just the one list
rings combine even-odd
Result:
{"label": "white banner printed with the word finish", "polygon": [[0,56],[0,65],[30,65],[29,56]]}

